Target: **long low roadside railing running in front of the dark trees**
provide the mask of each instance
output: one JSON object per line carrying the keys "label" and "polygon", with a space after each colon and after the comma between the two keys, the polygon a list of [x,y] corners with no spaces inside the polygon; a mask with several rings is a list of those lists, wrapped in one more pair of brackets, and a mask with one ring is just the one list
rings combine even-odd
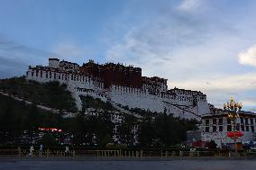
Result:
{"label": "long low roadside railing running in front of the dark trees", "polygon": [[[228,151],[190,151],[165,149],[80,149],[46,148],[42,152],[35,149],[30,154],[28,148],[0,149],[0,157],[44,157],[44,158],[228,158],[232,152]],[[240,157],[256,157],[256,152],[240,152]]]}

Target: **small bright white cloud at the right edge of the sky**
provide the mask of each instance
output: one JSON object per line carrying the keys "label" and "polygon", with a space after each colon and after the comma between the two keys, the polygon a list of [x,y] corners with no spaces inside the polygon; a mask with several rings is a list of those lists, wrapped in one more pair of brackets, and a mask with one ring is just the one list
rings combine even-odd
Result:
{"label": "small bright white cloud at the right edge of the sky", "polygon": [[256,45],[251,48],[242,51],[239,55],[239,62],[242,65],[256,66]]}

